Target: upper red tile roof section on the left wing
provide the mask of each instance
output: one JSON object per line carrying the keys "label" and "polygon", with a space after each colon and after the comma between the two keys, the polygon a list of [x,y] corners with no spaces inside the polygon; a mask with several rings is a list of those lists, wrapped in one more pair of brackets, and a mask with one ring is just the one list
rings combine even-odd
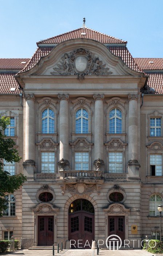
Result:
{"label": "upper red tile roof section on the left wing", "polygon": [[[22,69],[30,59],[0,59],[0,69]],[[25,63],[22,63],[25,62]]]}

